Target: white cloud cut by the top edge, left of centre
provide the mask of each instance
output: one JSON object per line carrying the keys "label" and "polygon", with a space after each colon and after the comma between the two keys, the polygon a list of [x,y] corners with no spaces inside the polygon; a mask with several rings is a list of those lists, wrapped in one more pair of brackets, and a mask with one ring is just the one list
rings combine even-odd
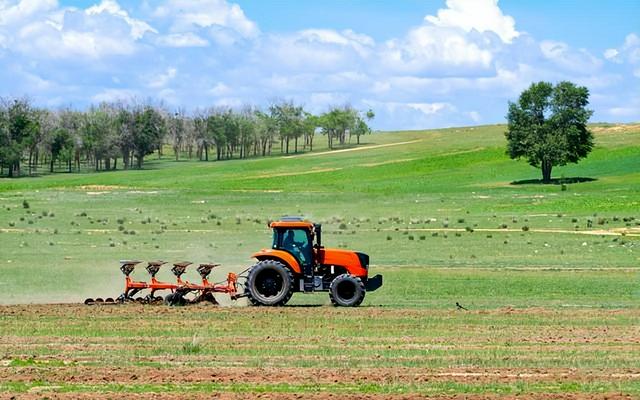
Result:
{"label": "white cloud cut by the top edge, left of centre", "polygon": [[155,9],[154,16],[169,19],[174,32],[218,26],[247,38],[260,33],[258,25],[245,16],[240,6],[226,0],[166,0]]}

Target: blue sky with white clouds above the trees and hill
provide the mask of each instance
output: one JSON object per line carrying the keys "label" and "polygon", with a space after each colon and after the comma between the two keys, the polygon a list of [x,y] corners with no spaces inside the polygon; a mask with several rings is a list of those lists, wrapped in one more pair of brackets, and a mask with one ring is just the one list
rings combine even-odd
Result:
{"label": "blue sky with white clouds above the trees and hill", "polygon": [[532,82],[640,121],[640,1],[0,0],[0,96],[49,107],[349,103],[377,129],[504,122]]}

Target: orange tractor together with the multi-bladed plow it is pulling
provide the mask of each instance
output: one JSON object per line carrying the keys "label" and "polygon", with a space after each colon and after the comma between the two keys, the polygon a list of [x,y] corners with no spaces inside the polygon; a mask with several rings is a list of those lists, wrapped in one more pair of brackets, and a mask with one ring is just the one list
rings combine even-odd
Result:
{"label": "orange tractor together with the multi-bladed plow it is pulling", "polygon": [[[146,270],[151,276],[149,282],[135,281],[131,273],[140,261],[120,261],[120,270],[125,275],[125,290],[117,298],[86,299],[85,304],[164,302],[168,305],[185,305],[207,301],[218,304],[214,293],[226,293],[232,300],[247,297],[256,306],[285,305],[294,292],[329,292],[331,302],[336,306],[356,307],[364,300],[367,291],[382,286],[382,275],[369,277],[369,256],[349,250],[329,249],[321,244],[322,228],[298,217],[285,217],[271,222],[273,244],[253,254],[258,262],[245,272],[244,293],[238,291],[238,276],[233,272],[224,282],[211,283],[208,276],[219,264],[200,264],[197,268],[201,283],[182,280],[182,275],[190,262],[173,264],[171,272],[176,282],[161,282],[156,279],[163,261],[151,261]],[[140,291],[148,290],[145,297],[134,297]],[[155,293],[168,290],[164,297]],[[187,299],[188,294],[192,294]]]}

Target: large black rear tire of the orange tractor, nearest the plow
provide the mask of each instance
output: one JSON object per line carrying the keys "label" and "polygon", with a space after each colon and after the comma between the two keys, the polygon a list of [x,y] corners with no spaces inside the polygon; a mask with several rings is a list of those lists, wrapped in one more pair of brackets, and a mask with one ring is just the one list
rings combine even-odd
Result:
{"label": "large black rear tire of the orange tractor, nearest the plow", "polygon": [[283,306],[293,294],[293,274],[281,262],[259,261],[251,267],[244,291],[254,306]]}

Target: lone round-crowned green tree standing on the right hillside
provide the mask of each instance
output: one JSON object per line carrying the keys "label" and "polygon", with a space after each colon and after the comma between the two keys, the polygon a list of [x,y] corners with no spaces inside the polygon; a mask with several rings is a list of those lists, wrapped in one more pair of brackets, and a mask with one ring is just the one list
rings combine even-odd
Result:
{"label": "lone round-crowned green tree standing on the right hillside", "polygon": [[544,183],[551,182],[554,166],[577,163],[593,148],[593,134],[587,129],[593,111],[588,104],[586,87],[571,82],[532,84],[517,103],[509,102],[507,154],[525,158],[542,170]]}

